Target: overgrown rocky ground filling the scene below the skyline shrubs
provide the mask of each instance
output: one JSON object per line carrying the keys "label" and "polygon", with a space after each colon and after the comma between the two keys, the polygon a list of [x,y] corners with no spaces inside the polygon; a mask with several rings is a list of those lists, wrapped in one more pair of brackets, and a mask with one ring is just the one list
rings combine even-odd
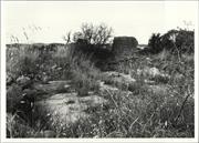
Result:
{"label": "overgrown rocky ground filling the scene below the skyline shrubs", "polygon": [[28,61],[28,52],[22,61],[15,54],[18,60],[8,62],[8,136],[192,136],[191,55],[185,63],[165,53],[135,55],[104,71],[84,57],[61,53],[46,54],[43,62]]}

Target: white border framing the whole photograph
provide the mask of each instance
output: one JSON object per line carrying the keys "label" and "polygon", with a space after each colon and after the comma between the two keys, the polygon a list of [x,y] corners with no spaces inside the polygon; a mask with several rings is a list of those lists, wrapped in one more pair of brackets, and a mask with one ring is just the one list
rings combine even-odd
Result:
{"label": "white border framing the whole photograph", "polygon": [[[128,0],[129,1],[129,0]],[[133,2],[138,2],[138,1],[134,1]],[[157,2],[158,0],[156,0]],[[172,2],[172,1],[168,1],[168,0],[163,0],[166,2]],[[186,2],[188,2],[189,0],[187,0]],[[76,143],[76,142],[136,142],[136,143],[146,143],[146,142],[158,142],[158,143],[168,143],[168,142],[174,142],[174,143],[198,143],[198,103],[199,103],[199,98],[198,98],[198,72],[199,72],[199,44],[198,44],[198,33],[199,33],[199,29],[198,29],[198,16],[196,17],[197,22],[195,23],[195,137],[193,139],[7,139],[6,137],[6,29],[4,29],[4,2],[11,2],[11,1],[1,1],[1,49],[0,49],[0,59],[1,59],[1,76],[0,76],[0,101],[1,101],[1,112],[0,112],[0,140],[1,142],[4,143],[23,143],[23,142],[61,142],[61,143],[65,143],[65,142],[71,142],[71,143]],[[39,1],[38,1],[39,2]],[[46,1],[50,2],[50,1]],[[57,1],[57,2],[63,2],[63,1]],[[66,1],[64,1],[66,2]],[[84,1],[78,1],[78,2],[84,2]],[[100,2],[100,1],[91,1],[91,2]],[[102,1],[101,1],[102,2]],[[105,0],[103,0],[103,2],[106,2]],[[123,2],[123,1],[112,1],[112,2]],[[154,1],[139,1],[139,2],[154,2]],[[184,1],[175,1],[175,2],[185,2]],[[193,0],[190,2],[196,2],[197,4],[197,11],[198,11],[198,0]],[[199,11],[198,11],[199,12]]]}

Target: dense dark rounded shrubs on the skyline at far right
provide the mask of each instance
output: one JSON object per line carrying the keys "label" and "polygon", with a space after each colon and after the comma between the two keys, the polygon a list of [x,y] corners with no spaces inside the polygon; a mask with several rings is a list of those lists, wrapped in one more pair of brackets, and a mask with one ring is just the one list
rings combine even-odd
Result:
{"label": "dense dark rounded shrubs on the skyline at far right", "polygon": [[153,34],[148,41],[149,52],[158,53],[166,49],[171,53],[192,53],[195,52],[195,31],[189,30],[169,30],[160,35]]}

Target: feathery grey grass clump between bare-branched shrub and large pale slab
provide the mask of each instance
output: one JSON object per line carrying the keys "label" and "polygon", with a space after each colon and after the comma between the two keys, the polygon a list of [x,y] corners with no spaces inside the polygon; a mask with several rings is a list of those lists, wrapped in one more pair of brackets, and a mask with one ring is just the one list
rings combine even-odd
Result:
{"label": "feathery grey grass clump between bare-branched shrub and large pale slab", "polygon": [[[73,80],[74,86],[77,91],[83,92],[95,90],[97,91],[98,84],[96,81],[100,79],[100,70],[91,62],[91,57],[76,52],[74,49],[69,49],[66,54],[67,62],[70,63],[70,76]],[[67,73],[69,74],[69,73]]]}

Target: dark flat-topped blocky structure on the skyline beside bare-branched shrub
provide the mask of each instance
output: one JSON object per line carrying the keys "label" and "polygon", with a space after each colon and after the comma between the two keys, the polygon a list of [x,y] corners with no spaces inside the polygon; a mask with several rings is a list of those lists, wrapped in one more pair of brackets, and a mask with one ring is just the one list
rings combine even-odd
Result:
{"label": "dark flat-topped blocky structure on the skyline beside bare-branched shrub", "polygon": [[134,37],[115,37],[113,41],[113,53],[117,59],[130,55],[136,47],[137,40]]}

